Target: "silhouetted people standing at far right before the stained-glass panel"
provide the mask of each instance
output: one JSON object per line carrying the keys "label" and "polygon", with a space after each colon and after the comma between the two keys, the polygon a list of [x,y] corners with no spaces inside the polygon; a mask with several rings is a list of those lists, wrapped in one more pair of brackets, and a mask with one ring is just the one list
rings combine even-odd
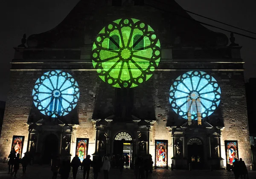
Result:
{"label": "silhouetted people standing at far right before the stained-glass panel", "polygon": [[234,172],[235,179],[238,179],[239,176],[241,179],[246,179],[246,176],[248,175],[247,167],[242,158],[239,160],[235,159],[235,162],[233,162],[232,171]]}

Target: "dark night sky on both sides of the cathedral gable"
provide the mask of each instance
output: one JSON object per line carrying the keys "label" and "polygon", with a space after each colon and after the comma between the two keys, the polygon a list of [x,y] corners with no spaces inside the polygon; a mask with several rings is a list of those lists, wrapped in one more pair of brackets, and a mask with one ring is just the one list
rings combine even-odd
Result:
{"label": "dark night sky on both sides of the cathedral gable", "polygon": [[[79,0],[15,0],[1,2],[1,46],[0,46],[0,101],[6,101],[9,86],[9,64],[14,56],[14,49],[20,44],[24,33],[27,37],[48,31],[57,26],[73,9]],[[256,32],[255,0],[176,0],[183,9],[192,11],[239,28]],[[192,3],[193,2],[193,3]],[[232,27],[224,26],[207,19],[191,15],[196,20],[243,33],[256,38],[256,35]],[[230,38],[229,32],[222,32]],[[244,64],[244,78],[256,78],[256,40],[235,35],[236,43],[243,46],[241,56]],[[31,90],[31,89],[28,89]]]}

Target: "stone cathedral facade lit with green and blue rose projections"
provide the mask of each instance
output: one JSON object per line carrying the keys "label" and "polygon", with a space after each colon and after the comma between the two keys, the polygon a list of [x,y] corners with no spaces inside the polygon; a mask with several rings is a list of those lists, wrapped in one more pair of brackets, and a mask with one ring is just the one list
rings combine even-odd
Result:
{"label": "stone cathedral facade lit with green and blue rose projections", "polygon": [[241,46],[174,0],[81,0],[15,48],[0,155],[251,164]]}

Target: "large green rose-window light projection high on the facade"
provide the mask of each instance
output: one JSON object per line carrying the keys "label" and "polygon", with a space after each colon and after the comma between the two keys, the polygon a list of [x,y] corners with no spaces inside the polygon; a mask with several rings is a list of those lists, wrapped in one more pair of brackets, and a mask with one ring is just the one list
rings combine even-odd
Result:
{"label": "large green rose-window light projection high on the facade", "polygon": [[140,20],[118,19],[105,26],[92,48],[99,77],[118,88],[132,88],[147,81],[160,61],[160,41]]}

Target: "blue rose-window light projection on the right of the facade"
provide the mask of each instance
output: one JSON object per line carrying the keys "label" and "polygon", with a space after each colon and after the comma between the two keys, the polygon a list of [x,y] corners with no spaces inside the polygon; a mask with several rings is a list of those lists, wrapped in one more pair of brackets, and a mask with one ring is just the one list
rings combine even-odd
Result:
{"label": "blue rose-window light projection on the right of the facade", "polygon": [[[205,118],[211,115],[220,104],[221,89],[217,81],[206,72],[189,71],[180,75],[170,88],[169,101],[172,109],[181,117],[188,119],[188,112],[191,119],[197,120],[198,101],[200,103],[200,116]],[[190,101],[194,101],[191,102]],[[190,102],[190,109],[188,103]],[[193,104],[194,103],[194,104]],[[197,103],[197,104],[195,104]],[[194,110],[191,110],[191,107]]]}

